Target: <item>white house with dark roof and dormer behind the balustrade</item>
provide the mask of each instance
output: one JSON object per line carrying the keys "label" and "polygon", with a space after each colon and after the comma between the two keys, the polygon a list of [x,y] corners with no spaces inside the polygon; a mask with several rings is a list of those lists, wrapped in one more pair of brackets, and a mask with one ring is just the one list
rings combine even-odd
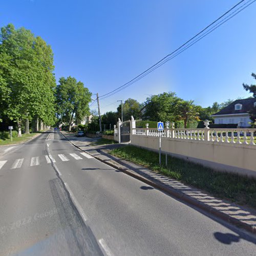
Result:
{"label": "white house with dark roof and dormer behind the balustrade", "polygon": [[250,127],[250,115],[248,111],[256,108],[256,98],[237,99],[221,111],[212,115],[217,124],[234,123],[238,127]]}

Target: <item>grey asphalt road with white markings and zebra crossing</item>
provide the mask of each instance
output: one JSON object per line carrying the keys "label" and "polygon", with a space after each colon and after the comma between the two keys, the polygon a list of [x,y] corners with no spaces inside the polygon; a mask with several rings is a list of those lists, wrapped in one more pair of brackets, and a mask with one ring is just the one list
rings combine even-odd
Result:
{"label": "grey asphalt road with white markings and zebra crossing", "polygon": [[58,132],[10,147],[0,148],[1,255],[256,255],[252,234],[90,158]]}

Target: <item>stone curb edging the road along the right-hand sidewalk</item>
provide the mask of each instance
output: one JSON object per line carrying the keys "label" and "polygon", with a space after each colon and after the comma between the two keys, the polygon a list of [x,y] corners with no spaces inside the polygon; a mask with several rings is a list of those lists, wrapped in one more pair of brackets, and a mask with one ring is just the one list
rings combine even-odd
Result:
{"label": "stone curb edging the road along the right-hand sidewalk", "polygon": [[[62,133],[61,133],[62,134]],[[63,134],[62,134],[63,135]],[[65,135],[63,135],[72,145],[74,145],[76,148],[78,148],[79,150],[83,151],[79,146],[76,146],[74,143],[72,143]],[[201,203],[199,202],[198,200],[194,199],[194,198],[191,198],[187,195],[185,195],[184,193],[180,192],[180,191],[177,191],[176,189],[174,188],[170,188],[170,187],[167,187],[166,185],[162,184],[160,181],[158,182],[154,182],[152,180],[149,180],[147,178],[144,178],[143,176],[141,175],[138,175],[136,174],[135,172],[129,170],[129,168],[124,168],[124,167],[121,167],[121,165],[119,164],[116,164],[116,162],[114,160],[112,160],[112,162],[110,161],[106,161],[106,160],[103,160],[101,159],[100,157],[97,157],[97,156],[94,156],[92,155],[91,153],[87,152],[87,154],[91,155],[92,157],[94,157],[95,159],[107,164],[107,165],[110,165],[111,167],[115,168],[115,169],[118,169],[120,170],[121,172],[137,179],[137,180],[140,180],[148,185],[151,185],[155,188],[158,188],[162,191],[164,191],[165,193],[171,195],[171,196],[174,196],[175,198],[179,199],[179,200],[182,200],[188,204],[191,204],[191,205],[194,205],[206,212],[208,212],[209,214],[211,215],[214,215],[215,217],[217,218],[220,218],[226,222],[229,222],[231,224],[234,224],[240,228],[243,228],[253,234],[256,234],[256,227],[253,227],[247,223],[244,223],[244,222],[241,222],[239,221],[238,219],[236,218],[233,218],[227,214],[224,214],[224,212],[221,212],[221,211],[218,211],[204,203]]]}

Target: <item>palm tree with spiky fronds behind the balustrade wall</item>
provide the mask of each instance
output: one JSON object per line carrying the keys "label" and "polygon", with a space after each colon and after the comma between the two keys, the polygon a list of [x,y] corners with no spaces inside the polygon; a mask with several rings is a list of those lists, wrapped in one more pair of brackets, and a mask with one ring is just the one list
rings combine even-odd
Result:
{"label": "palm tree with spiky fronds behind the balustrade wall", "polygon": [[197,106],[193,100],[183,100],[179,102],[179,116],[181,120],[184,120],[184,128],[187,127],[187,123],[190,120],[198,120],[199,113]]}

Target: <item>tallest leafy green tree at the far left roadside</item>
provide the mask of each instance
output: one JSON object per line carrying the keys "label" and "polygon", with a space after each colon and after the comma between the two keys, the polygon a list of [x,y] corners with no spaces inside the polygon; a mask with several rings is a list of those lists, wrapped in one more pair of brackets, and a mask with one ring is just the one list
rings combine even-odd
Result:
{"label": "tallest leafy green tree at the far left roadside", "polygon": [[21,136],[22,120],[29,133],[35,114],[46,122],[54,118],[53,54],[40,37],[11,24],[1,28],[0,42],[1,111],[17,122]]}

